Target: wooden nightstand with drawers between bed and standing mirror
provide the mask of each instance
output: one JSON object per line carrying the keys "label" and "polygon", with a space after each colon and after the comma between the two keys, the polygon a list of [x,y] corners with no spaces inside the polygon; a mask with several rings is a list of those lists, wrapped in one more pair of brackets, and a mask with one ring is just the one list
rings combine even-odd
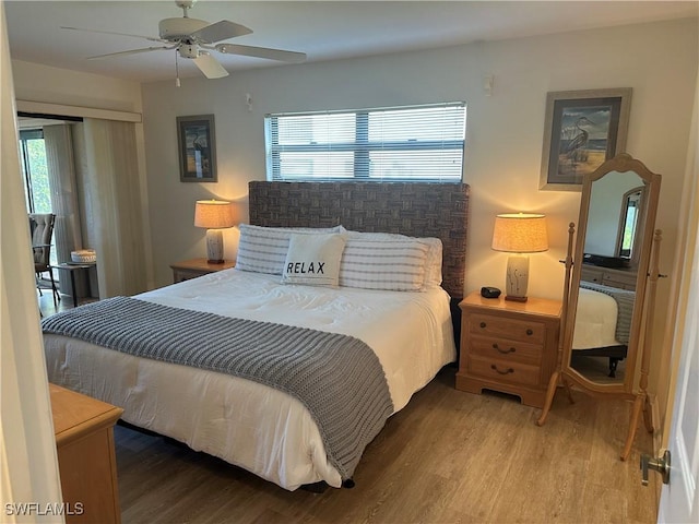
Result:
{"label": "wooden nightstand with drawers between bed and standing mirror", "polygon": [[463,314],[457,389],[500,391],[543,407],[558,357],[560,300],[530,297],[513,302],[474,291],[459,307]]}

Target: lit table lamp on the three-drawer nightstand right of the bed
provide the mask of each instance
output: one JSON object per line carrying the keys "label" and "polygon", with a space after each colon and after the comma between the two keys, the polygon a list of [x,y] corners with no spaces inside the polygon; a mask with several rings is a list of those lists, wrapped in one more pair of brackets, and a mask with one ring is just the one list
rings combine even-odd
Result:
{"label": "lit table lamp on the three-drawer nightstand right of the bed", "polygon": [[526,301],[529,255],[548,249],[546,217],[531,213],[506,213],[495,217],[493,249],[511,254],[507,260],[506,300]]}

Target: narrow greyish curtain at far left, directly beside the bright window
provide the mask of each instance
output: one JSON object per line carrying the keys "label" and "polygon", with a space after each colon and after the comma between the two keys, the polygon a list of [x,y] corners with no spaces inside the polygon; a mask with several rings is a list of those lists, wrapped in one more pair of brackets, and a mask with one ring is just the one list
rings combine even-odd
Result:
{"label": "narrow greyish curtain at far left, directly beside the bright window", "polygon": [[[51,209],[56,214],[54,249],[58,262],[69,262],[70,252],[82,248],[79,191],[70,128],[70,124],[44,127],[46,163],[49,187],[51,188]],[[61,278],[60,287],[63,293],[72,293],[68,278]]]}

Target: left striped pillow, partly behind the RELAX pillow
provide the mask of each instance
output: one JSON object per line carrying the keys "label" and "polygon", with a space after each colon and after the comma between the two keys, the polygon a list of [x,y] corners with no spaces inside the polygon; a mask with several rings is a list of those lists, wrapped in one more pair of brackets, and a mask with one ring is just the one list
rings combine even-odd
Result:
{"label": "left striped pillow, partly behind the RELAX pillow", "polygon": [[240,241],[236,269],[254,273],[281,275],[288,251],[288,242],[294,234],[321,235],[343,233],[342,226],[306,228],[306,227],[262,227],[240,224]]}

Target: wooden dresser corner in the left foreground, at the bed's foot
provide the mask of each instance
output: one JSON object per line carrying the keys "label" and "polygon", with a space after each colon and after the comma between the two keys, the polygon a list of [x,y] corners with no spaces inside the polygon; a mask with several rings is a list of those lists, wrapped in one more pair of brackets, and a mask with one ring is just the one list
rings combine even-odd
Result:
{"label": "wooden dresser corner in the left foreground, at the bed's foot", "polygon": [[66,522],[121,522],[114,451],[120,407],[49,384]]}

